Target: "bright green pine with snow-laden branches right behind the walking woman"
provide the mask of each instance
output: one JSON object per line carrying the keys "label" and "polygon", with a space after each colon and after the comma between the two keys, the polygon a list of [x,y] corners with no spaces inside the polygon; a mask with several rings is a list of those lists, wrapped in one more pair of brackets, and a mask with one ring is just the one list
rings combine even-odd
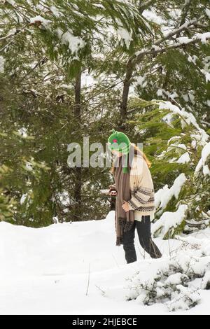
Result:
{"label": "bright green pine with snow-laden branches right behind the walking woman", "polygon": [[132,125],[152,162],[155,186],[153,233],[164,238],[205,228],[210,223],[209,134],[192,113],[171,102],[130,99],[139,109]]}

